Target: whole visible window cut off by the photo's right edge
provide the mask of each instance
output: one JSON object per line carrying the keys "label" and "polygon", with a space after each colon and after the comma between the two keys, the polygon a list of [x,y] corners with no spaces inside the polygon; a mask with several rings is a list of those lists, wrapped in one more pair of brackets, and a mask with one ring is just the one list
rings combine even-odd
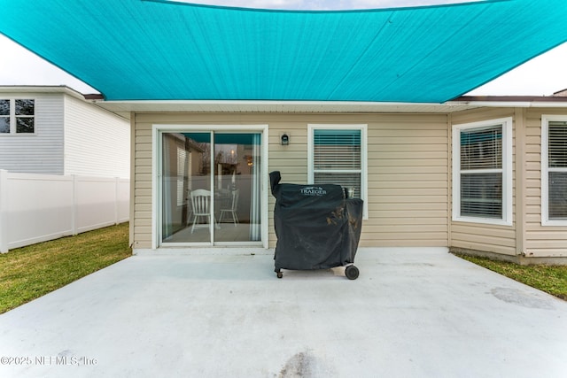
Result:
{"label": "whole visible window cut off by the photo's right edge", "polygon": [[541,224],[567,225],[567,116],[541,117]]}

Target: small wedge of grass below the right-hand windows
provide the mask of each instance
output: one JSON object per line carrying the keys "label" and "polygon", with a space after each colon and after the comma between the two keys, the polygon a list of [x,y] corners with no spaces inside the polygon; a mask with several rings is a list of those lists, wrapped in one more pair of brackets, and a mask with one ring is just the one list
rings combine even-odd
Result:
{"label": "small wedge of grass below the right-hand windows", "polygon": [[456,254],[479,266],[505,275],[532,288],[540,289],[552,296],[567,300],[567,266],[520,266],[505,261]]}

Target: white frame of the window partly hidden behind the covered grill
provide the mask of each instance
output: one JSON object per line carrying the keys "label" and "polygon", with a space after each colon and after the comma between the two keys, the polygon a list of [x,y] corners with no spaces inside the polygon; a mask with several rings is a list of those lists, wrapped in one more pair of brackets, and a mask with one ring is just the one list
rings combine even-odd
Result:
{"label": "white frame of the window partly hidden behind the covered grill", "polygon": [[[361,130],[361,199],[364,201],[362,219],[369,219],[368,206],[368,125],[367,124],[307,124],[307,183],[315,183],[314,130]],[[340,172],[340,171],[337,171]],[[352,173],[353,170],[344,172]]]}

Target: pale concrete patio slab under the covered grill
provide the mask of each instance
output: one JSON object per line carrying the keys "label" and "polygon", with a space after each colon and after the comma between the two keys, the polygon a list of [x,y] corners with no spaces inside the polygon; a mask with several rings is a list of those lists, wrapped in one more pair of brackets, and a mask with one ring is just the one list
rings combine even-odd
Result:
{"label": "pale concrete patio slab under the covered grill", "polygon": [[[242,250],[241,250],[242,251]],[[447,249],[135,256],[0,315],[2,377],[564,377],[567,302]]]}

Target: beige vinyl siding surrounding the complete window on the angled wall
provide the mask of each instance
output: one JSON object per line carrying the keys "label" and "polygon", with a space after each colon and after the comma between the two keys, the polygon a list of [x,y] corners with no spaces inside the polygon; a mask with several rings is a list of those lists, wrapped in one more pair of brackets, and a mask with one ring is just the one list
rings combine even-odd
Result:
{"label": "beige vinyl siding surrounding the complete window on the angled wall", "polygon": [[[451,124],[460,125],[484,120],[502,119],[506,117],[515,117],[515,109],[483,108],[467,112],[456,112],[451,114]],[[452,247],[477,251],[489,251],[510,256],[517,255],[516,159],[514,158],[514,150],[516,149],[516,120],[514,120],[512,135],[512,156],[514,160],[512,161],[512,184],[514,188],[514,195],[512,198],[512,219],[514,220],[514,225],[510,227],[451,220],[450,244]],[[453,165],[451,165],[451,169],[453,169]],[[449,216],[449,219],[452,219],[451,215]]]}

